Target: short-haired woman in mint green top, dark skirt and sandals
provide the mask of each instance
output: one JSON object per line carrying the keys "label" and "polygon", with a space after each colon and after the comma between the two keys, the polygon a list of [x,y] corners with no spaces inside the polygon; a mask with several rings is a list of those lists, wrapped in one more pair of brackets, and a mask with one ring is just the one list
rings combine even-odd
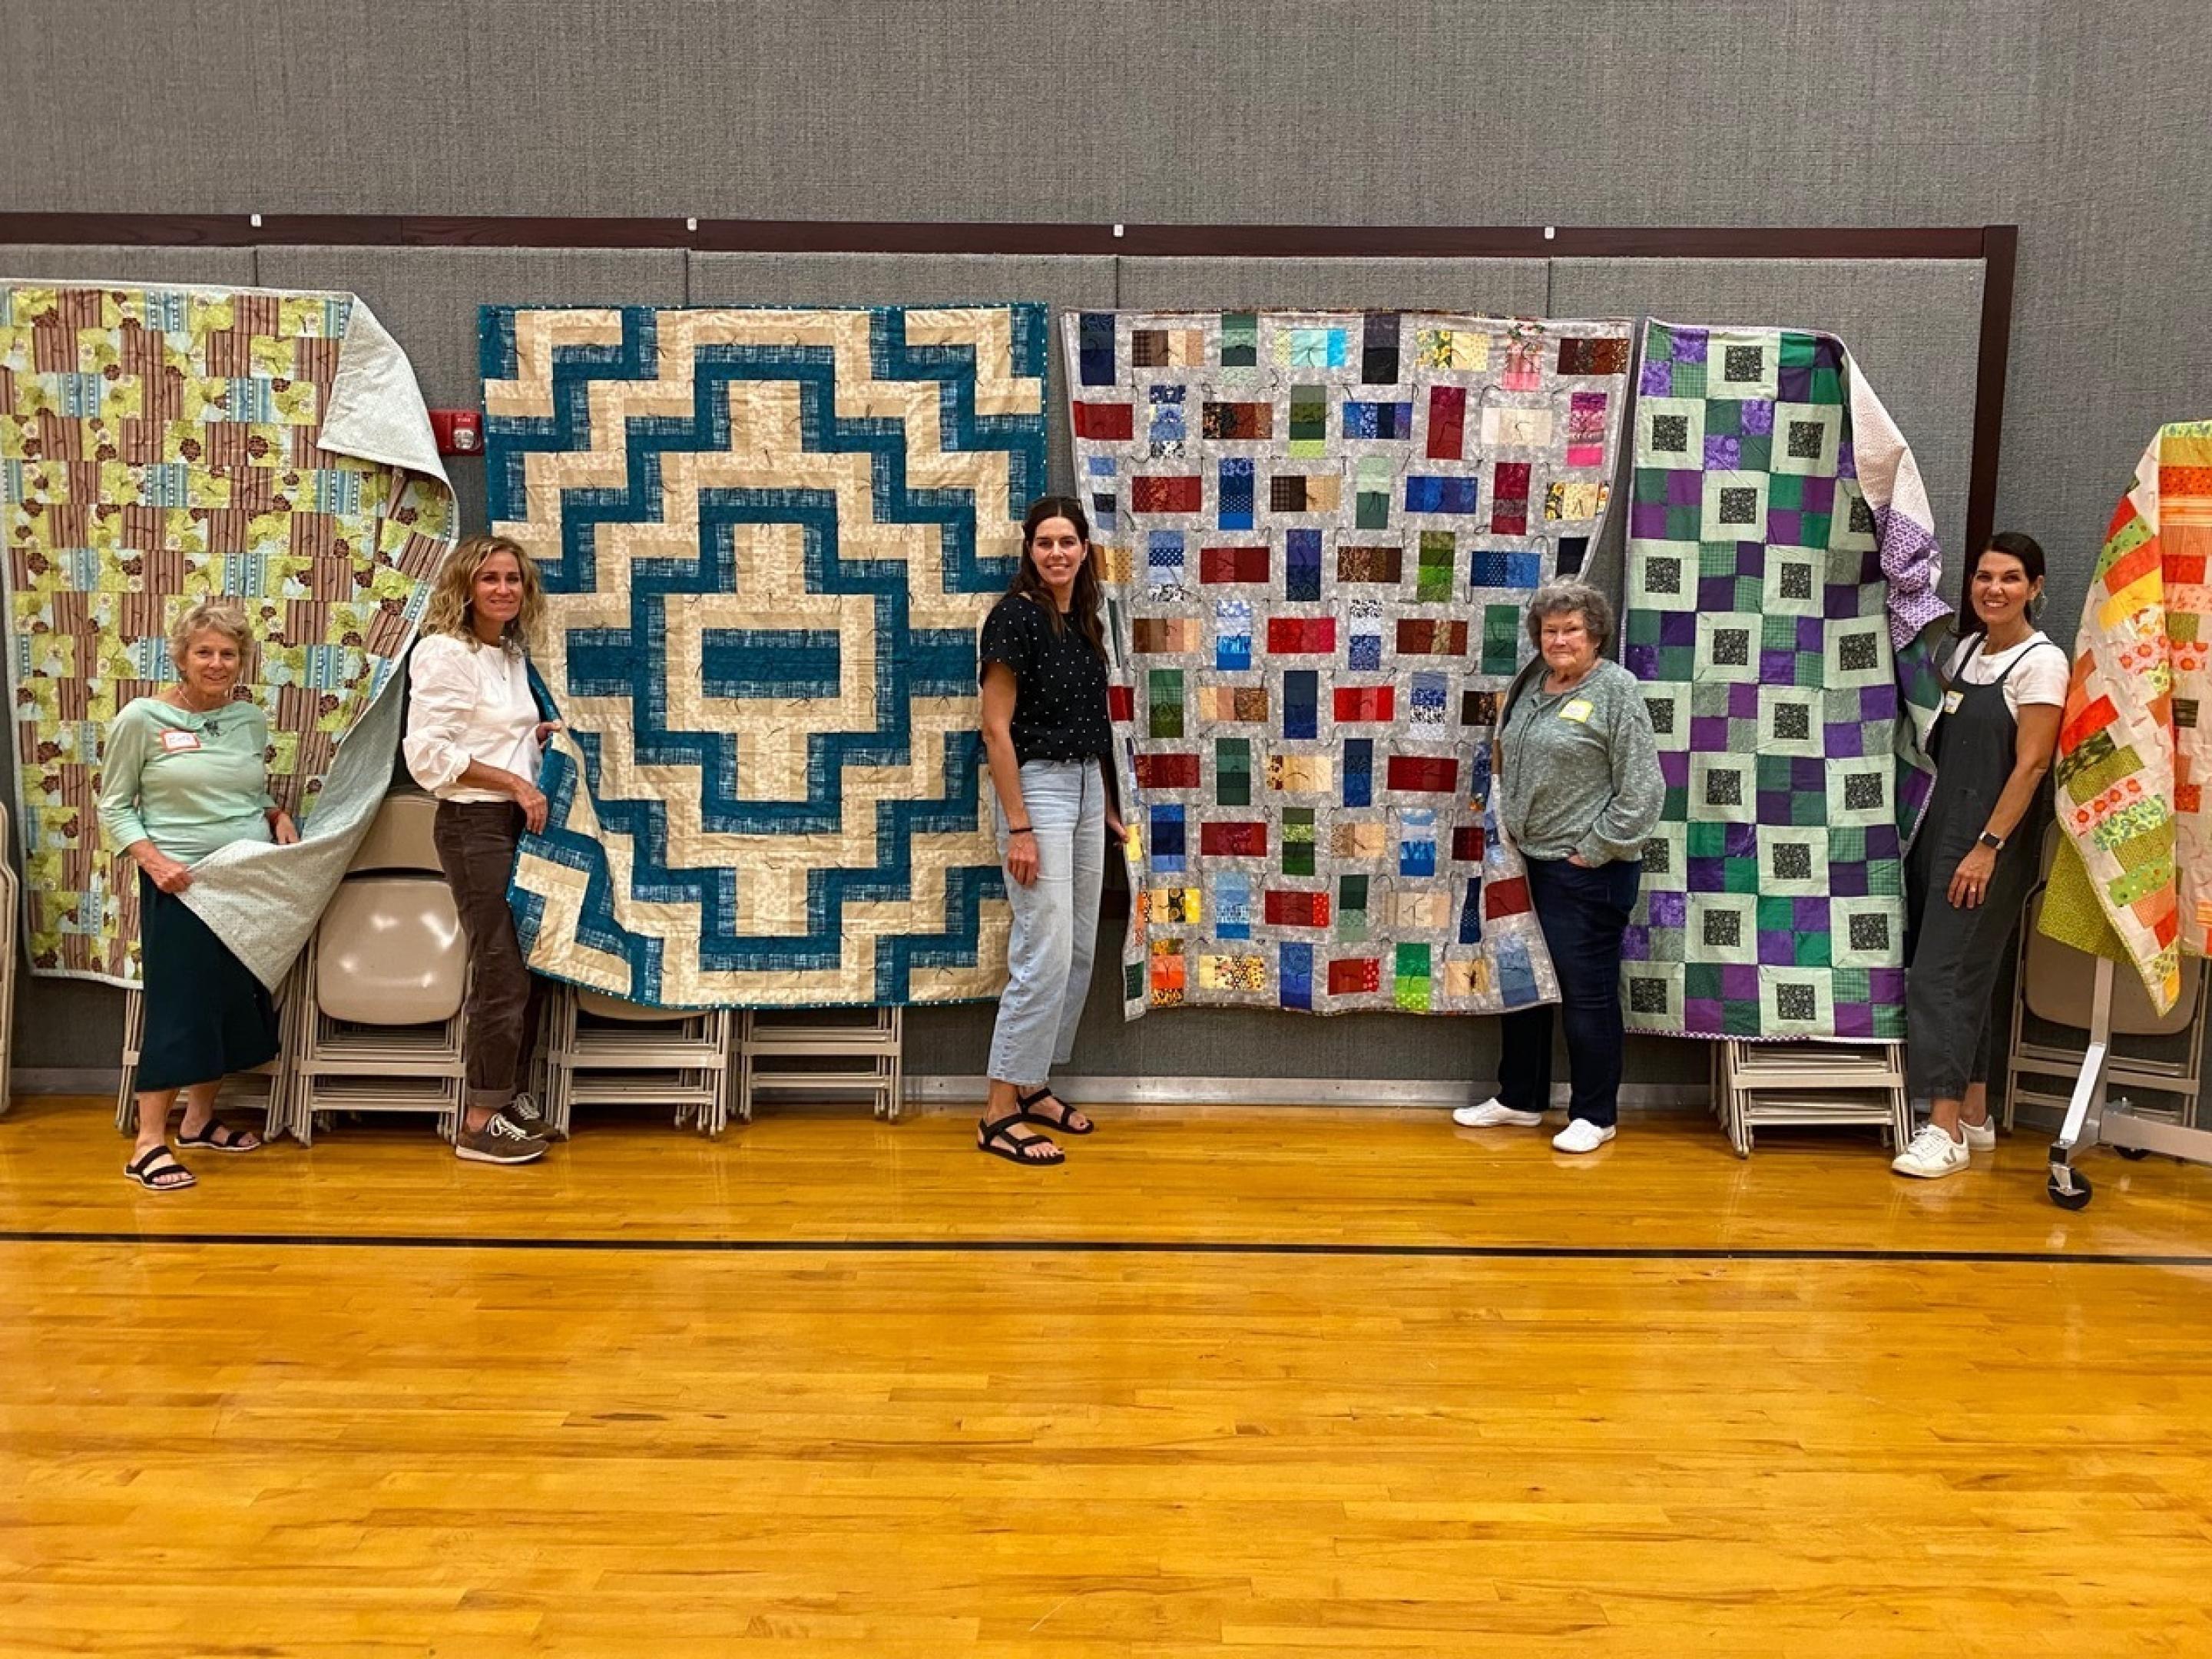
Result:
{"label": "short-haired woman in mint green top, dark skirt and sandals", "polygon": [[250,641],[246,613],[201,599],[170,630],[179,681],[139,697],[108,728],[100,827],[139,867],[137,1146],[124,1175],[150,1192],[195,1183],[168,1150],[168,1113],[184,1093],[179,1146],[252,1152],[261,1137],[215,1117],[234,1071],[274,1060],[276,1009],[181,894],[192,865],[232,841],[299,841],[268,792],[268,714],[232,701]]}

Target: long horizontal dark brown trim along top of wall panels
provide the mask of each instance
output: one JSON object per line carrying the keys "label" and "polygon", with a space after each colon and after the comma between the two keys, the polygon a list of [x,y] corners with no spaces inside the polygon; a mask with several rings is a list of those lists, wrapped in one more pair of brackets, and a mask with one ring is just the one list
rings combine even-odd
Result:
{"label": "long horizontal dark brown trim along top of wall panels", "polygon": [[1986,232],[1557,226],[1055,226],[867,219],[533,219],[270,212],[0,212],[0,243],[170,248],[692,248],[823,254],[1245,254],[1276,259],[1982,259]]}

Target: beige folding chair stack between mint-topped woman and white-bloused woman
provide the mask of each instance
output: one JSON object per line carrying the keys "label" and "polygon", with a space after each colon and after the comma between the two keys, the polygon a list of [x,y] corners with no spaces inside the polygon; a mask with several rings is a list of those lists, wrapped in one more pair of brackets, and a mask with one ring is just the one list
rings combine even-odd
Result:
{"label": "beige folding chair stack between mint-topped woman and white-bloused woman", "polygon": [[418,790],[385,796],[301,953],[285,1044],[301,1144],[332,1113],[434,1113],[447,1139],[460,1128],[469,969],[436,810]]}

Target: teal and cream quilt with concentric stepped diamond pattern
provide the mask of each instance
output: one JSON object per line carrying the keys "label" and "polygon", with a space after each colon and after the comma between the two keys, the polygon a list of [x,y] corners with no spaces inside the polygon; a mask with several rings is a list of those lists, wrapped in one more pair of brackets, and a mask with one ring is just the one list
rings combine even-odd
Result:
{"label": "teal and cream quilt with concentric stepped diamond pattern", "polygon": [[998,995],[975,630],[1044,491],[1042,305],[482,314],[489,511],[568,730],[531,967],[661,1006]]}

